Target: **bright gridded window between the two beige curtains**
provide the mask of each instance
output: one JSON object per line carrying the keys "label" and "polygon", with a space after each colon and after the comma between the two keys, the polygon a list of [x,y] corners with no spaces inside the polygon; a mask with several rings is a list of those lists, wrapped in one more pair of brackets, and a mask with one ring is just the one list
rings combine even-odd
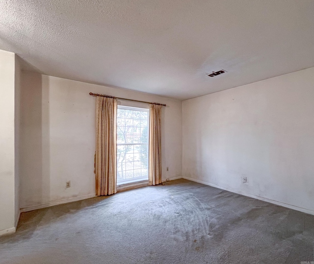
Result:
{"label": "bright gridded window between the two beige curtains", "polygon": [[149,109],[118,106],[117,185],[148,180]]}

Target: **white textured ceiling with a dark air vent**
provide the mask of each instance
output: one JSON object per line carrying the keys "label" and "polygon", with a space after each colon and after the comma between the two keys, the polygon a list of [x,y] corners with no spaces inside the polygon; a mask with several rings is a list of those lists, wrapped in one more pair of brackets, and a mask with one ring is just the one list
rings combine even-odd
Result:
{"label": "white textured ceiling with a dark air vent", "polygon": [[314,0],[0,0],[0,49],[182,100],[314,67]]}

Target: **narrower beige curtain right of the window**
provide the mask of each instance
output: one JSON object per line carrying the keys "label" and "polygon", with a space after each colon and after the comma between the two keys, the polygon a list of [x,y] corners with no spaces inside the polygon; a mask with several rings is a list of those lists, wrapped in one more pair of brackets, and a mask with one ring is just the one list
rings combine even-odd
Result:
{"label": "narrower beige curtain right of the window", "polygon": [[161,183],[161,105],[151,104],[149,122],[149,185]]}

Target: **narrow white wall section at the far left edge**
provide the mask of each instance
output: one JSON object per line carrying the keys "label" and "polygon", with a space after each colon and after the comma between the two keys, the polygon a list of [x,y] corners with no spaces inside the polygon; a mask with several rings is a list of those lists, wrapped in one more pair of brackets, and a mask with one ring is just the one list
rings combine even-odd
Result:
{"label": "narrow white wall section at the far left edge", "polygon": [[0,50],[0,235],[14,232],[15,54]]}

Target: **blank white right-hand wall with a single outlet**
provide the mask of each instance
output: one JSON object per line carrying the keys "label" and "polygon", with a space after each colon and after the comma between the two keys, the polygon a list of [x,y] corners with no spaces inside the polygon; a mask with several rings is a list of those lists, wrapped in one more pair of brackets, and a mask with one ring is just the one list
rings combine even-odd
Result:
{"label": "blank white right-hand wall with a single outlet", "polygon": [[183,101],[183,177],[313,214],[314,68]]}

